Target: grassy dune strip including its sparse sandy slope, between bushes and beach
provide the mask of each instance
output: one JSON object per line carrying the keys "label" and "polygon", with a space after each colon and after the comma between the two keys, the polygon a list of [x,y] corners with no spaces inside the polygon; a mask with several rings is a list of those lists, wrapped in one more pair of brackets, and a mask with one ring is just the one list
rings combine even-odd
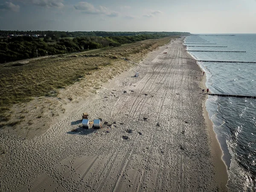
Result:
{"label": "grassy dune strip including its sparse sandy slope, between bushes and beach", "polygon": [[146,40],[76,56],[0,65],[0,127],[11,127],[10,131],[24,137],[44,133],[53,118],[66,111],[62,106],[95,94],[103,83],[134,66],[124,58],[139,62],[169,41],[170,38]]}

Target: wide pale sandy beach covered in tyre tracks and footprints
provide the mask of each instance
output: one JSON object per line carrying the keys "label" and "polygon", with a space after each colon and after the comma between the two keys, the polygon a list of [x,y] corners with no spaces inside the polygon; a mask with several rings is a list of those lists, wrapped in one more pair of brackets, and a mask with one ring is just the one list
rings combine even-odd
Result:
{"label": "wide pale sandy beach covered in tyre tracks and footprints", "polygon": [[[227,191],[204,77],[182,42],[149,53],[41,136],[1,134],[0,191]],[[83,129],[83,112],[104,127]]]}

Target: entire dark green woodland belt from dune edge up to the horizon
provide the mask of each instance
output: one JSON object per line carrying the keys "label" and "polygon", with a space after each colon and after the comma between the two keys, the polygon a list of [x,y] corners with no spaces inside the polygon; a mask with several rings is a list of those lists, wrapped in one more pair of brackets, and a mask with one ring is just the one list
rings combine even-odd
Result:
{"label": "entire dark green woodland belt from dune edge up to the horizon", "polygon": [[[39,34],[43,38],[31,36],[12,36]],[[34,58],[37,56],[57,55],[80,52],[103,47],[119,47],[146,39],[162,38],[180,32],[54,32],[54,31],[0,31],[0,63]],[[10,35],[7,38],[7,35]],[[45,36],[46,35],[46,36]],[[87,36],[91,35],[91,36]],[[108,37],[106,37],[108,35]],[[122,35],[122,36],[116,36]],[[123,36],[126,35],[126,36]],[[134,35],[134,36],[131,36]],[[183,34],[184,35],[184,34]],[[69,38],[75,36],[76,38]],[[102,37],[99,37],[102,36]],[[104,36],[104,37],[103,37]],[[36,51],[37,50],[37,51]]]}

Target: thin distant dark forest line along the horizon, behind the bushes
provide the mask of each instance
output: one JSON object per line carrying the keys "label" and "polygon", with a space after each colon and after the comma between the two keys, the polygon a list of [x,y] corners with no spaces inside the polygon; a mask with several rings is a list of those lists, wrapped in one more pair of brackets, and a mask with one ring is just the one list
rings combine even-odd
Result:
{"label": "thin distant dark forest line along the horizon, behind the bushes", "polygon": [[52,37],[55,35],[58,38],[66,37],[81,37],[81,36],[95,36],[95,37],[114,37],[114,36],[135,36],[135,35],[190,35],[189,32],[105,32],[105,31],[4,31],[0,30],[0,37],[7,37],[8,35],[46,35]]}

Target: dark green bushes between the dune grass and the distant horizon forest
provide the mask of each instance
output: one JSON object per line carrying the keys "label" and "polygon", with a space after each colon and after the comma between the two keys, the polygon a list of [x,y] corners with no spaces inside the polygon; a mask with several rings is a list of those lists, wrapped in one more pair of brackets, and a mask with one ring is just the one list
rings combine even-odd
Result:
{"label": "dark green bushes between the dune grass and the distant horizon forest", "polygon": [[166,35],[135,35],[114,37],[77,38],[34,38],[29,36],[2,38],[0,40],[0,63],[17,61],[46,55],[80,52],[87,49],[118,47],[146,39],[161,38]]}

